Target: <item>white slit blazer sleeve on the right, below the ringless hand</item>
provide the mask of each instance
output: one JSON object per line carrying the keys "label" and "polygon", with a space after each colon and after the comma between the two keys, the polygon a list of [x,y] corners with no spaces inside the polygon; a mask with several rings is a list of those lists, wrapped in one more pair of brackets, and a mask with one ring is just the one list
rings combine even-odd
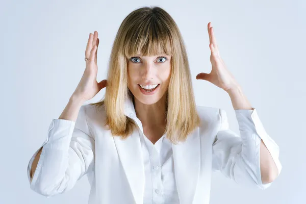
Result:
{"label": "white slit blazer sleeve on the right, below the ringless hand", "polygon": [[226,112],[219,109],[220,129],[213,143],[213,171],[221,171],[226,177],[238,184],[256,185],[268,188],[271,183],[263,184],[260,170],[261,139],[269,150],[278,174],[282,170],[279,162],[279,147],[266,133],[257,114],[257,109],[235,110],[240,136],[228,128]]}

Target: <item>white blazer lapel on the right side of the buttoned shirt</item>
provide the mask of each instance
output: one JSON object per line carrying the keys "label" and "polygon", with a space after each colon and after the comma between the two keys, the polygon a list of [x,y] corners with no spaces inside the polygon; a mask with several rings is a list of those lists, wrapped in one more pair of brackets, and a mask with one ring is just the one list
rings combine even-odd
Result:
{"label": "white blazer lapel on the right side of the buttoned shirt", "polygon": [[195,129],[185,142],[172,144],[174,173],[181,204],[193,201],[200,172],[200,136]]}

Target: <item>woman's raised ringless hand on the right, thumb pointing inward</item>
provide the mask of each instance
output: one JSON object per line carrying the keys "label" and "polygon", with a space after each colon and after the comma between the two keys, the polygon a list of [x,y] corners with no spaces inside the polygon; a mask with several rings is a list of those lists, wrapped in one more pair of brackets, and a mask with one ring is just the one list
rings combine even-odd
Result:
{"label": "woman's raised ringless hand on the right, thumb pointing inward", "polygon": [[198,73],[196,75],[196,79],[209,81],[224,91],[238,87],[239,85],[237,81],[232,73],[227,70],[223,60],[220,57],[213,27],[211,27],[211,22],[208,23],[207,27],[210,41],[209,47],[211,50],[210,61],[212,63],[212,70],[210,73]]}

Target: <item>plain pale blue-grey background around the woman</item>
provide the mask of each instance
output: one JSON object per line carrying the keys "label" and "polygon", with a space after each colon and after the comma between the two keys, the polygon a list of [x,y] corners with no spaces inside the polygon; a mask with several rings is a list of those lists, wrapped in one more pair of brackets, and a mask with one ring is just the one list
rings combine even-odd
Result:
{"label": "plain pale blue-grey background around the woman", "polygon": [[306,203],[302,0],[3,1],[0,203],[87,203],[85,177],[71,191],[46,198],[30,189],[27,166],[82,77],[89,33],[99,34],[100,81],[120,23],[142,6],[160,6],[174,18],[187,46],[197,105],[225,109],[231,129],[239,134],[228,94],[195,79],[199,72],[211,71],[207,24],[212,22],[221,57],[280,147],[283,170],[270,188],[239,186],[216,172],[211,203]]}

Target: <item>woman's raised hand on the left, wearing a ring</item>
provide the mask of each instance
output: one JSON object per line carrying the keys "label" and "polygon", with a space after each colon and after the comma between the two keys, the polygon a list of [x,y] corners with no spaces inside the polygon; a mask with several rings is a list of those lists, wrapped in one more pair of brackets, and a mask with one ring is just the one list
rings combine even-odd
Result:
{"label": "woman's raised hand on the left, wearing a ring", "polygon": [[86,60],[86,68],[81,81],[73,92],[73,97],[75,98],[79,98],[84,101],[89,100],[107,85],[107,80],[102,80],[99,83],[97,82],[98,45],[98,32],[95,31],[93,34],[90,33],[85,50],[85,58],[88,58],[88,60]]}

